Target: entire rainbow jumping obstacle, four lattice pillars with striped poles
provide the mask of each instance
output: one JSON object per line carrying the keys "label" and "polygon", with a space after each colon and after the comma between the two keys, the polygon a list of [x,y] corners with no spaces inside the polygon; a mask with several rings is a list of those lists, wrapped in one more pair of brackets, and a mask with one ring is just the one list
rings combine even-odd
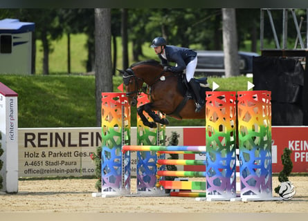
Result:
{"label": "entire rainbow jumping obstacle, four lattice pillars with striped poles", "polygon": [[[275,200],[270,100],[269,91],[206,92],[206,146],[165,146],[165,126],[148,128],[138,118],[137,145],[130,145],[125,93],[102,93],[102,196],[132,194],[130,154],[136,151],[138,194],[166,195],[165,189],[178,189],[188,191],[170,195],[208,201]],[[139,105],[146,102],[147,96],[141,95]],[[206,160],[165,160],[165,153],[206,153]],[[165,165],[205,165],[206,171],[165,171]],[[165,180],[165,176],[204,177],[204,182]]]}

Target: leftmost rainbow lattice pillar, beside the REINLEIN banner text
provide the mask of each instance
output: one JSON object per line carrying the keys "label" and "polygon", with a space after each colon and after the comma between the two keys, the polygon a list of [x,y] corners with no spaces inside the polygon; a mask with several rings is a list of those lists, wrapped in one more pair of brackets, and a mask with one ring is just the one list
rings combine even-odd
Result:
{"label": "leftmost rainbow lattice pillar, beside the REINLEIN banner text", "polygon": [[125,93],[102,93],[102,196],[130,193],[130,106]]}

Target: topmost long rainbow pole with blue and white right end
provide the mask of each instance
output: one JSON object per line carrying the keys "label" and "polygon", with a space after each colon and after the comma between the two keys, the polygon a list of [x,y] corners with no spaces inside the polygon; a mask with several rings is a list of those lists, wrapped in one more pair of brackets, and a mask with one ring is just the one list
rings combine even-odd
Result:
{"label": "topmost long rainbow pole with blue and white right end", "polygon": [[190,151],[193,153],[206,153],[206,146],[137,146],[124,145],[122,151]]}

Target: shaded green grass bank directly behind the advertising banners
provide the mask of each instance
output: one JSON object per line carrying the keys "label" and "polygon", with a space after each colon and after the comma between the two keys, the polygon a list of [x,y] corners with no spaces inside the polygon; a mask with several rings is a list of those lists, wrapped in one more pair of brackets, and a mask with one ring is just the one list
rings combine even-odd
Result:
{"label": "shaded green grass bank directly behind the advertising banners", "polygon": [[[218,90],[246,90],[247,77],[211,77]],[[18,93],[19,128],[95,127],[95,77],[83,75],[0,75],[0,81]],[[114,92],[122,78],[114,77]],[[168,117],[170,126],[204,126],[203,119]],[[136,108],[132,108],[132,126],[136,126]]]}

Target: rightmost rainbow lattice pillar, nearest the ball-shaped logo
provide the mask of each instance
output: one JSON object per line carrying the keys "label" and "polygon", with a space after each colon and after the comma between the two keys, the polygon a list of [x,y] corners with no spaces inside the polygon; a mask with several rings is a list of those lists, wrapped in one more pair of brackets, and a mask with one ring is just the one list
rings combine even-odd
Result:
{"label": "rightmost rainbow lattice pillar, nearest the ball-shaped logo", "polygon": [[237,96],[241,198],[272,200],[271,92]]}

